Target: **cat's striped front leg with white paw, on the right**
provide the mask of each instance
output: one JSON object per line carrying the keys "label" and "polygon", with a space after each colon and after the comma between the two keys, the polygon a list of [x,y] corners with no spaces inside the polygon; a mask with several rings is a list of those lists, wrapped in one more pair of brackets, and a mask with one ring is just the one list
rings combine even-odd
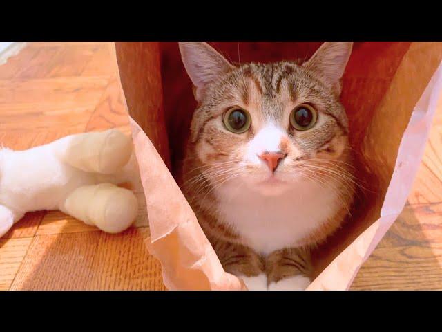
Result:
{"label": "cat's striped front leg with white paw, on the right", "polygon": [[304,291],[311,282],[309,248],[289,248],[272,252],[266,261],[269,291]]}

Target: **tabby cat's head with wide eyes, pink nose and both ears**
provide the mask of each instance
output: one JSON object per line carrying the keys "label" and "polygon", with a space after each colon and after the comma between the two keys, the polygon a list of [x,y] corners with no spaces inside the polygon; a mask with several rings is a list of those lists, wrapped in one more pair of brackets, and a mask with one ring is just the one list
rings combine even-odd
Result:
{"label": "tabby cat's head with wide eyes, pink nose and both ears", "polygon": [[204,42],[181,42],[180,51],[198,101],[191,146],[213,184],[278,194],[308,181],[318,160],[338,165],[348,147],[339,95],[352,42],[326,42],[302,65],[233,66]]}

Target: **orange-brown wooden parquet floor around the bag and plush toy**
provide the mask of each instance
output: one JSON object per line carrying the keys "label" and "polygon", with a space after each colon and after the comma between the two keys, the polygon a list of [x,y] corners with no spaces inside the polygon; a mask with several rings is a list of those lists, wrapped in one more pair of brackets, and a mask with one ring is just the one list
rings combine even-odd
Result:
{"label": "orange-brown wooden parquet floor around the bag and plush toy", "polygon": [[[129,133],[109,44],[33,43],[0,66],[5,147],[111,127]],[[117,235],[61,212],[27,214],[0,239],[0,290],[164,289],[147,232],[145,208]],[[442,109],[407,206],[352,289],[442,289]]]}

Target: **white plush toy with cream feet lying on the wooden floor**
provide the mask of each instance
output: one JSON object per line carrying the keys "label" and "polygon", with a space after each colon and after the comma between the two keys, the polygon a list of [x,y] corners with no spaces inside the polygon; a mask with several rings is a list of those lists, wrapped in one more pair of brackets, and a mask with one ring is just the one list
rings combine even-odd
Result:
{"label": "white plush toy with cream feet lying on the wooden floor", "polygon": [[28,211],[61,210],[117,233],[137,214],[132,141],[121,131],[79,133],[25,151],[0,149],[0,237]]}

